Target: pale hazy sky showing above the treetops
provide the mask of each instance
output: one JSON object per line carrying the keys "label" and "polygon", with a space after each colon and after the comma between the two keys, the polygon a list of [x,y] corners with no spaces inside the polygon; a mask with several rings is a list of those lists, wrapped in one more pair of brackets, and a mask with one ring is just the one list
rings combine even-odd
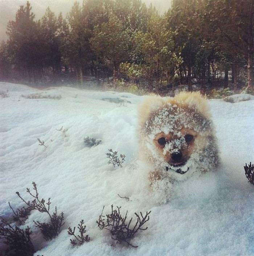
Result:
{"label": "pale hazy sky showing above the treetops", "polygon": [[[82,2],[82,0],[79,0]],[[169,8],[170,0],[143,0],[147,5],[152,3],[161,13]],[[64,16],[70,11],[75,0],[30,0],[32,11],[36,15],[36,19],[40,19],[46,8],[56,14],[62,12]],[[15,13],[20,5],[25,5],[26,0],[0,0],[0,42],[7,39],[5,33],[6,26],[9,20],[15,18]]]}

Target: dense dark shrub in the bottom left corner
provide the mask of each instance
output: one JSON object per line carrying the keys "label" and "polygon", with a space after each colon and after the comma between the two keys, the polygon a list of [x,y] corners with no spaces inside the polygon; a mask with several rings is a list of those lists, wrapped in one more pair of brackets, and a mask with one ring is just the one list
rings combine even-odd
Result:
{"label": "dense dark shrub in the bottom left corner", "polygon": [[33,256],[31,233],[29,227],[24,230],[0,218],[0,239],[8,246],[6,255]]}

